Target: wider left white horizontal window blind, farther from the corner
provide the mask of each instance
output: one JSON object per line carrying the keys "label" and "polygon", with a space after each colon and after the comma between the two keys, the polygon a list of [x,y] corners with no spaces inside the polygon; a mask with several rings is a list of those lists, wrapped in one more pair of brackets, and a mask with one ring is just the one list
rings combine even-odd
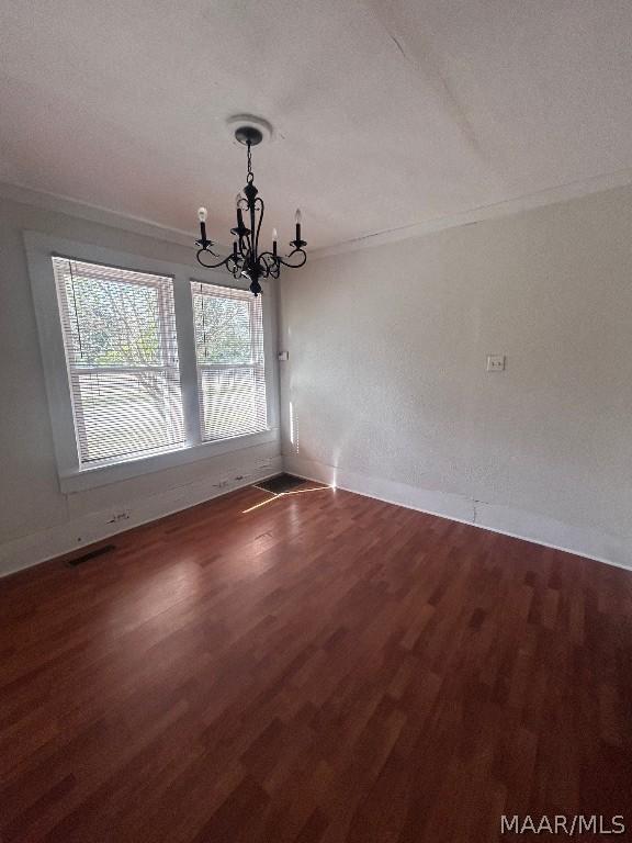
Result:
{"label": "wider left white horizontal window blind, farther from the corner", "polygon": [[54,257],[80,463],[184,442],[173,282]]}

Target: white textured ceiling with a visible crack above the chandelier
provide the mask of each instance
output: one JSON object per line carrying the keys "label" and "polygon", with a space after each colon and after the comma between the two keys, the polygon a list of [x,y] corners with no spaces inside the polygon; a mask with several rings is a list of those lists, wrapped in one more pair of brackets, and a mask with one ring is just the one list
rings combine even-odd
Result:
{"label": "white textured ceiling with a visible crack above the chandelier", "polygon": [[0,180],[327,247],[632,168],[629,0],[0,0]]}

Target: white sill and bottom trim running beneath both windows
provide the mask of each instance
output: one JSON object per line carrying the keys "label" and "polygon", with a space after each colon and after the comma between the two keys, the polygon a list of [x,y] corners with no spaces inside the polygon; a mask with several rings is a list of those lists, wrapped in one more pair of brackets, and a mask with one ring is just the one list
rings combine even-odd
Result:
{"label": "white sill and bottom trim running beneath both windows", "polygon": [[246,434],[230,439],[219,439],[215,442],[201,442],[200,445],[184,446],[172,451],[154,453],[150,457],[138,457],[124,462],[109,465],[95,465],[87,469],[75,469],[59,474],[59,487],[65,494],[84,492],[111,483],[150,474],[156,471],[185,465],[190,462],[208,460],[222,453],[239,451],[245,448],[253,448],[258,445],[274,442],[279,439],[279,429],[270,428],[260,434]]}

